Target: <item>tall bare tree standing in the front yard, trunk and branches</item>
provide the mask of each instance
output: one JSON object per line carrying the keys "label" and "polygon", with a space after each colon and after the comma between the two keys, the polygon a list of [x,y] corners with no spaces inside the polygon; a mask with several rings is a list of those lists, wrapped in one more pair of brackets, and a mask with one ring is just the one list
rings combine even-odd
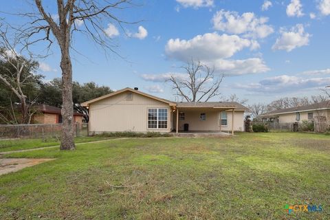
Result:
{"label": "tall bare tree standing in the front yard, trunk and branches", "polygon": [[[113,42],[105,32],[107,23],[117,23],[122,27],[122,21],[114,10],[129,8],[133,4],[130,0],[57,0],[57,19],[47,12],[47,1],[34,0],[32,6],[36,12],[19,14],[30,19],[30,22],[17,28],[18,38],[25,42],[25,47],[29,48],[39,41],[47,41],[48,47],[57,42],[61,50],[61,70],[63,82],[63,126],[61,150],[72,150],[74,144],[73,129],[73,109],[72,100],[72,59],[70,49],[72,48],[72,36],[75,32],[80,32],[89,36],[94,43],[101,46],[104,50],[113,50]],[[54,12],[53,12],[54,13]],[[83,25],[78,25],[82,23]],[[54,40],[55,39],[55,40]]]}

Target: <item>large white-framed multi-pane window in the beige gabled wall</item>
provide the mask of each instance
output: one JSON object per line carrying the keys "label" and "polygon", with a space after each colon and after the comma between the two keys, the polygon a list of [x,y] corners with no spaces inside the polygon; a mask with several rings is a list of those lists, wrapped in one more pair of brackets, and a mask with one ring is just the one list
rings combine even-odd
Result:
{"label": "large white-framed multi-pane window in the beige gabled wall", "polygon": [[148,129],[167,129],[167,109],[148,109]]}

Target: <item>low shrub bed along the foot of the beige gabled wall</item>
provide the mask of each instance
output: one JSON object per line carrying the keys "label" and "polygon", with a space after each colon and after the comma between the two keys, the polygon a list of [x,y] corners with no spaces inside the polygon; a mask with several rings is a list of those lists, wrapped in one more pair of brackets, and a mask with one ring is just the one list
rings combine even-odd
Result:
{"label": "low shrub bed along the foot of the beige gabled wall", "polygon": [[124,132],[104,132],[100,134],[94,134],[96,137],[170,137],[170,133],[159,133],[159,132],[133,132],[133,131],[124,131]]}

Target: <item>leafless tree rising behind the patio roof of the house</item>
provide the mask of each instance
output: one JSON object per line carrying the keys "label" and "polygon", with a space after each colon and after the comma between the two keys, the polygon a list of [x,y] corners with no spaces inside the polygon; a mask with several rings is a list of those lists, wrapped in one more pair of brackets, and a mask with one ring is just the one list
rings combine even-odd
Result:
{"label": "leafless tree rising behind the patio roof of the house", "polygon": [[182,67],[187,73],[186,78],[170,76],[168,81],[173,85],[175,95],[184,98],[187,102],[207,102],[214,96],[219,96],[220,84],[223,75],[214,76],[214,68],[201,64],[200,61],[190,61]]}

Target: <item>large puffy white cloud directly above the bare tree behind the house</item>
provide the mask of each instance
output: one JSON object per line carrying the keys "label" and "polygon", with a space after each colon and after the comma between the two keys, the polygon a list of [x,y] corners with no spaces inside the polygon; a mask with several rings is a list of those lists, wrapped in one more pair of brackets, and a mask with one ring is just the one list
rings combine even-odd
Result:
{"label": "large puffy white cloud directly above the bare tree behind the house", "polygon": [[170,39],[166,44],[165,52],[168,57],[179,61],[189,61],[191,58],[208,60],[229,58],[250,46],[251,41],[236,35],[207,33],[197,35],[190,40]]}

